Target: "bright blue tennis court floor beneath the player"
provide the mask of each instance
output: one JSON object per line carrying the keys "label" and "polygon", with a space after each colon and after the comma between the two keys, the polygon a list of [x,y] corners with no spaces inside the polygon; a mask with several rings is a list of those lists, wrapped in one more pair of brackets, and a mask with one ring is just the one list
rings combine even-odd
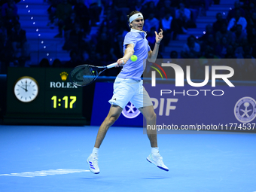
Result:
{"label": "bright blue tennis court floor beneath the player", "polygon": [[0,127],[1,191],[256,191],[254,133],[158,135],[165,172],[146,160],[142,128],[113,126],[93,175],[98,126]]}

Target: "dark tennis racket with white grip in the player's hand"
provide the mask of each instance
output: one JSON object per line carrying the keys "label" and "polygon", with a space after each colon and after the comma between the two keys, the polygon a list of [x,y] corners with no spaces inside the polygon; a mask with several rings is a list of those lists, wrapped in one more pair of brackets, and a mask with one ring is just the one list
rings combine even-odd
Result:
{"label": "dark tennis racket with white grip in the player's hand", "polygon": [[78,87],[84,87],[93,83],[106,69],[113,68],[114,66],[117,66],[117,62],[108,66],[77,66],[70,72],[69,80]]}

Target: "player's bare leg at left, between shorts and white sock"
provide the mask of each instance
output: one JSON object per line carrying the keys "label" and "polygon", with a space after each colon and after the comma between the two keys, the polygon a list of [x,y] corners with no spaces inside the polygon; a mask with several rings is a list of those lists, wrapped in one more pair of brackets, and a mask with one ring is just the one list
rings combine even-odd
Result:
{"label": "player's bare leg at left, between shorts and white sock", "polygon": [[120,114],[122,113],[123,108],[120,108],[118,105],[111,105],[110,110],[108,112],[108,116],[103,121],[102,125],[99,126],[99,131],[96,137],[96,142],[94,147],[99,148],[102,144],[103,139],[105,138],[105,134],[108,131],[108,128],[114,124],[114,122],[118,119]]}

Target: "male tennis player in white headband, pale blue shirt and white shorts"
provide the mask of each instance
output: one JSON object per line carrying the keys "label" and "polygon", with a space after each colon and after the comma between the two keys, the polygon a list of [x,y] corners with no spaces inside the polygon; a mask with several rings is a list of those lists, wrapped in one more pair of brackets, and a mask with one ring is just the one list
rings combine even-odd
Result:
{"label": "male tennis player in white headband, pale blue shirt and white shorts", "polygon": [[[152,51],[146,39],[147,34],[143,31],[144,18],[142,13],[133,11],[127,17],[131,30],[126,34],[123,41],[123,57],[117,60],[117,66],[123,66],[123,69],[114,81],[114,94],[108,101],[111,104],[108,116],[99,127],[93,152],[87,159],[90,172],[95,174],[99,173],[99,147],[105,138],[105,134],[108,128],[118,119],[129,101],[142,112],[148,125],[154,126],[156,124],[157,115],[154,113],[151,99],[142,85],[141,76],[145,70],[145,60],[155,62],[157,59],[160,41],[163,39],[163,30],[160,29],[158,34],[155,32],[156,42]],[[130,59],[133,54],[138,56],[135,62]],[[163,157],[159,154],[157,130],[147,130],[147,134],[151,143],[151,154],[149,154],[147,160],[160,169],[169,171],[163,163]]]}

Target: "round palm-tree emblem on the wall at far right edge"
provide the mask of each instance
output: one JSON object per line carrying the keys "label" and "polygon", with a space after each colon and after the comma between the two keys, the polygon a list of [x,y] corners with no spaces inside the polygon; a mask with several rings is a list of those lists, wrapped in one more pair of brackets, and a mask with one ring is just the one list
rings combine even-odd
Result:
{"label": "round palm-tree emblem on the wall at far right edge", "polygon": [[251,122],[256,117],[256,102],[249,96],[242,97],[236,102],[234,114],[242,123]]}

